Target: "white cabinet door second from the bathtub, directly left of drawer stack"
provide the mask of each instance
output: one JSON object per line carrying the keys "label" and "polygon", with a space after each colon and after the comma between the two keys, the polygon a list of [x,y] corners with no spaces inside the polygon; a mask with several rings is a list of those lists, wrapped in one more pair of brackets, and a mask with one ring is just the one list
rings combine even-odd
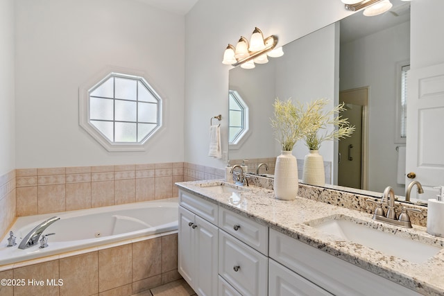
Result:
{"label": "white cabinet door second from the bathtub, directly left of drawer stack", "polygon": [[[196,293],[214,296],[218,290],[219,228],[196,216]],[[191,228],[192,229],[192,228]]]}

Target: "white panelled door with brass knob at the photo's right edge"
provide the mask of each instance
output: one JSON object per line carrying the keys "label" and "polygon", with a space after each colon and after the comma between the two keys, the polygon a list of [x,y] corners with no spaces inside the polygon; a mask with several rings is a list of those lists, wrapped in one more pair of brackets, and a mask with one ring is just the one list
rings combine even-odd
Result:
{"label": "white panelled door with brass knob at the photo's right edge", "polygon": [[419,198],[427,200],[436,198],[434,186],[444,185],[444,64],[408,75],[405,184],[418,180],[425,190]]}

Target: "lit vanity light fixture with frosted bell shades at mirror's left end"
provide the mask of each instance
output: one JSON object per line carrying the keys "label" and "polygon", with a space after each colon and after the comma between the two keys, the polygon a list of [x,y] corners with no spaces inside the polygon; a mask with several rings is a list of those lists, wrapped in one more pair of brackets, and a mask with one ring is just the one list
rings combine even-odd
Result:
{"label": "lit vanity light fixture with frosted bell shades at mirror's left end", "polygon": [[223,53],[222,64],[231,64],[236,67],[239,64],[244,69],[253,69],[255,63],[266,64],[268,57],[278,58],[284,55],[282,46],[275,49],[278,44],[278,37],[271,35],[264,39],[264,35],[259,28],[255,28],[251,35],[250,42],[246,37],[241,36],[236,44],[236,47],[228,44]]}

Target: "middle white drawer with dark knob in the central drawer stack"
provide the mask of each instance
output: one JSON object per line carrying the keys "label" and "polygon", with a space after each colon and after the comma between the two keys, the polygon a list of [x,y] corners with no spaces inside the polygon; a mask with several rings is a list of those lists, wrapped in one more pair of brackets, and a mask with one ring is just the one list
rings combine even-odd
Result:
{"label": "middle white drawer with dark knob in the central drawer stack", "polygon": [[241,295],[268,295],[268,258],[219,230],[219,275]]}

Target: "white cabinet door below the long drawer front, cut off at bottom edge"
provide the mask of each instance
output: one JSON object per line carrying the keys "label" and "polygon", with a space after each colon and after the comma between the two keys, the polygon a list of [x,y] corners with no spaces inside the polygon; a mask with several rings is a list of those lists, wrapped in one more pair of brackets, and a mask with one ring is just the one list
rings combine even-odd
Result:
{"label": "white cabinet door below the long drawer front, cut off at bottom edge", "polygon": [[268,295],[273,296],[332,296],[296,272],[269,259]]}

